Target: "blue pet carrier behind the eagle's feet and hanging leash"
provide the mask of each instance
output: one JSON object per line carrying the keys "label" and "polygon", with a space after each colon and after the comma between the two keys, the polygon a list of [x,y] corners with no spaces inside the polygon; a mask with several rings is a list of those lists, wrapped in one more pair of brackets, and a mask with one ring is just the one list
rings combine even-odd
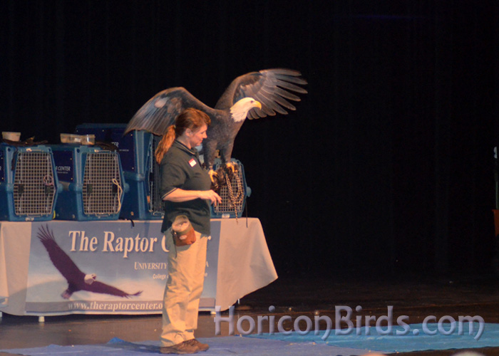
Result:
{"label": "blue pet carrier behind the eagle's feet and hanging leash", "polygon": [[[225,179],[223,180],[225,182],[222,182],[220,188],[217,189],[222,203],[217,204],[217,206],[212,205],[211,215],[213,218],[240,218],[245,209],[246,198],[251,195],[251,189],[246,184],[245,168],[242,163],[234,158],[231,159],[231,162],[234,164],[235,174],[232,177],[224,174]],[[216,158],[213,169],[217,171],[221,165],[221,159]]]}

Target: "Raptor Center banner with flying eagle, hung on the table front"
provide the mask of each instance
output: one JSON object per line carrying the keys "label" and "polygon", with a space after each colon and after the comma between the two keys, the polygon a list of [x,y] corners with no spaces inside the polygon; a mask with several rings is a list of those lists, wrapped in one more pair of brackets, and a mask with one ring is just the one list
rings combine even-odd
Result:
{"label": "Raptor Center banner with flying eagle, hung on the table front", "polygon": [[[161,221],[32,223],[26,315],[161,313],[170,251],[160,226]],[[212,222],[201,310],[215,308],[219,236],[220,221]]]}

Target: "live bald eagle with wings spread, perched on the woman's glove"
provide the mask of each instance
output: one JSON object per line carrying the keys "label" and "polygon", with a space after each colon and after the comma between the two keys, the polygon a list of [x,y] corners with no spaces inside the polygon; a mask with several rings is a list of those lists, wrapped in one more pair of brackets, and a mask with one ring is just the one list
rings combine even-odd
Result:
{"label": "live bald eagle with wings spread, perched on the woman's glove", "polygon": [[246,118],[273,116],[276,112],[287,115],[287,110],[296,110],[288,100],[300,101],[294,93],[307,93],[299,86],[307,84],[301,75],[297,70],[283,68],[241,75],[232,81],[215,108],[203,104],[185,88],[163,90],[135,113],[125,134],[132,130],[147,130],[162,136],[183,110],[202,110],[212,122],[202,143],[205,165],[212,169],[217,150],[220,150],[222,162],[230,162],[235,137]]}

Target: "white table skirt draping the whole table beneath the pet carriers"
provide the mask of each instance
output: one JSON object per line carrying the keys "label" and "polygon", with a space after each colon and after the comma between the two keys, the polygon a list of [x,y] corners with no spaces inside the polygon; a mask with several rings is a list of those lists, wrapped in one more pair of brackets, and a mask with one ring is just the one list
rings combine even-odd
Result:
{"label": "white table skirt draping the whole table beneath the pet carriers", "polygon": [[[171,253],[161,248],[160,224],[154,220],[135,221],[133,227],[130,221],[0,221],[0,311],[13,315],[161,313],[166,270],[138,271],[138,266],[156,268],[159,261],[167,261],[165,253]],[[214,310],[217,305],[227,310],[238,299],[275,281],[277,273],[259,219],[212,219],[211,224],[200,309]],[[54,231],[56,243],[84,273],[96,271],[97,281],[127,293],[143,293],[121,298],[78,291],[64,299],[61,293],[68,283],[37,238],[45,228]],[[111,234],[115,237],[112,244]],[[82,242],[83,235],[88,239]],[[121,236],[121,242],[128,236],[130,246],[135,244],[128,246],[130,252],[123,251],[125,244],[120,250]],[[155,244],[147,245],[153,238]],[[139,246],[140,241],[145,244]]]}

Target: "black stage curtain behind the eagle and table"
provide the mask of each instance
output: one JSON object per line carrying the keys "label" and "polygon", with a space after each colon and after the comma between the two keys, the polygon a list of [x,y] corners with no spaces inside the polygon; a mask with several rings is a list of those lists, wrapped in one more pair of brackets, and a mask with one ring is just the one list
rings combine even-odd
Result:
{"label": "black stage curtain behind the eagle and table", "polygon": [[[496,1],[2,4],[1,130],[58,142],[160,90],[214,106],[238,75],[301,70],[297,111],[245,122],[278,273],[491,273]],[[244,221],[240,221],[244,224]]]}

